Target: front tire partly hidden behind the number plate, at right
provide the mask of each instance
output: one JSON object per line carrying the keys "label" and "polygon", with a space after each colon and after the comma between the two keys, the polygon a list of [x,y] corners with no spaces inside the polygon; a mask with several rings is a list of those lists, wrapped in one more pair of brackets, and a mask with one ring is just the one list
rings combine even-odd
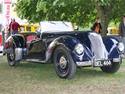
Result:
{"label": "front tire partly hidden behind the number plate, at right", "polygon": [[103,66],[101,67],[101,70],[106,73],[115,73],[120,68],[120,62],[112,62],[112,65],[110,66]]}

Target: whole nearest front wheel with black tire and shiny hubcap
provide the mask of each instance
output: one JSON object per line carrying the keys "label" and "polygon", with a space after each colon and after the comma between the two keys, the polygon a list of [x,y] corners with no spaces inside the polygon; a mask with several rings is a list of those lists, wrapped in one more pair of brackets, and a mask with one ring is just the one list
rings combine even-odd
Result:
{"label": "whole nearest front wheel with black tire and shiny hubcap", "polygon": [[70,52],[64,46],[58,46],[53,54],[53,62],[56,74],[60,78],[72,79],[76,72],[76,64]]}

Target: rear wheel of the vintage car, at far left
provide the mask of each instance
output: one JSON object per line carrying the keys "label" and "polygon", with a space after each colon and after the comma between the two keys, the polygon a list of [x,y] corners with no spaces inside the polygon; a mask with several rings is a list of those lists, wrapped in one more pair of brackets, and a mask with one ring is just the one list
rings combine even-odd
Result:
{"label": "rear wheel of the vintage car, at far left", "polygon": [[9,52],[7,52],[7,60],[8,60],[8,64],[10,66],[15,66],[16,65],[15,49],[14,49],[13,46],[11,48],[9,48]]}

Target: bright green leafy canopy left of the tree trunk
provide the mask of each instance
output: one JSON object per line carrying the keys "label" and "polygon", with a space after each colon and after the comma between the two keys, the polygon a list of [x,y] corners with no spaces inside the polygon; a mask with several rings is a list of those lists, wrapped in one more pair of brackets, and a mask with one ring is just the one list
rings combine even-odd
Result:
{"label": "bright green leafy canopy left of the tree trunk", "polygon": [[18,16],[29,21],[67,20],[79,25],[94,19],[91,9],[90,0],[19,0],[16,7]]}

